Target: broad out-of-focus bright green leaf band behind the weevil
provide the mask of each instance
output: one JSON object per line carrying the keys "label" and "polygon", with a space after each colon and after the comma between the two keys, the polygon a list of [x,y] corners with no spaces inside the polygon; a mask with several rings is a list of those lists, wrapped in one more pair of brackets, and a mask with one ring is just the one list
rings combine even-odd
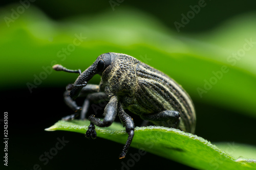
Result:
{"label": "broad out-of-focus bright green leaf band behind the weevil", "polygon": [[[17,6],[2,8],[0,17],[11,18],[11,8]],[[100,54],[116,52],[165,72],[198,103],[256,117],[256,47],[253,44],[234,65],[227,60],[243,48],[245,39],[256,40],[255,27],[248,29],[251,21],[245,18],[256,17],[248,14],[228,22],[229,27],[191,38],[133,9],[53,21],[31,6],[12,22],[0,20],[1,87],[27,88],[28,93],[38,87],[63,87],[77,75],[52,71],[53,64],[84,70]],[[82,37],[79,45],[77,37]],[[221,72],[222,66],[228,71]],[[90,83],[98,82],[94,77]],[[200,89],[205,91],[199,94]]]}

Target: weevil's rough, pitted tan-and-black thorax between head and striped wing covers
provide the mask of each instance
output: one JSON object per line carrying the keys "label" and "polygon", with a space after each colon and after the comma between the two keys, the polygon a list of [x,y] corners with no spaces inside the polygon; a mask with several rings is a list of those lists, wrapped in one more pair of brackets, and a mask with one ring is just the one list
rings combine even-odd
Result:
{"label": "weevil's rough, pitted tan-and-black thorax between head and striped wing covers", "polygon": [[133,57],[119,55],[103,72],[105,87],[109,87],[113,94],[132,96],[137,85],[136,61]]}

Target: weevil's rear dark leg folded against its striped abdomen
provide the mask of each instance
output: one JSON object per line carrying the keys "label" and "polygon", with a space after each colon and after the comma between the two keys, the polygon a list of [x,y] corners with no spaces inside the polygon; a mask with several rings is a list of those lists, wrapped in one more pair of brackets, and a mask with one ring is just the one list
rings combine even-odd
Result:
{"label": "weevil's rear dark leg folded against its striped abdomen", "polygon": [[178,128],[180,125],[180,113],[174,110],[164,110],[156,114],[143,114],[141,116],[144,120],[149,120],[157,126],[164,126],[169,128]]}

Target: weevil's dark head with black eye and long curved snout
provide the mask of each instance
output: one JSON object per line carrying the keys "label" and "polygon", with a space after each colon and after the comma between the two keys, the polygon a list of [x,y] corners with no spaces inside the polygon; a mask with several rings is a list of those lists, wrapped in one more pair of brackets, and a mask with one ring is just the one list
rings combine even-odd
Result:
{"label": "weevil's dark head with black eye and long curved snout", "polygon": [[83,87],[87,85],[87,82],[92,79],[96,74],[102,75],[102,72],[110,66],[112,63],[112,58],[110,53],[105,53],[100,55],[96,61],[82,72],[78,76],[74,84],[69,84],[66,88],[70,91],[70,96],[72,99],[76,99],[79,92]]}

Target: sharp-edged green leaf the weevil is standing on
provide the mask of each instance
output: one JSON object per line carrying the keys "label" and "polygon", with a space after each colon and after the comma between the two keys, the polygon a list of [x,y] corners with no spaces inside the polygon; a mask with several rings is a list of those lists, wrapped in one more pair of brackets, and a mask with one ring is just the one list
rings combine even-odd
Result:
{"label": "sharp-edged green leaf the weevil is standing on", "polygon": [[[89,124],[88,120],[72,120],[71,122],[60,120],[46,130],[84,134]],[[113,123],[108,128],[96,127],[96,131],[98,137],[115,142],[125,143],[127,140],[124,128],[118,123]],[[137,127],[131,146],[198,169],[256,169],[256,162],[253,162],[256,160],[242,158],[237,160],[236,157],[226,154],[209,141],[173,128]]]}

